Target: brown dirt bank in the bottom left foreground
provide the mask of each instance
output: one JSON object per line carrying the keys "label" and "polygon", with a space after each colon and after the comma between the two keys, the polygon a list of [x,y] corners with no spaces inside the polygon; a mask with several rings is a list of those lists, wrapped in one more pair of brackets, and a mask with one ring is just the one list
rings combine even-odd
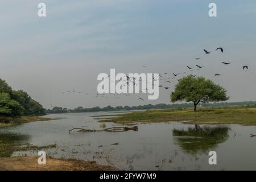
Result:
{"label": "brown dirt bank in the bottom left foreground", "polygon": [[38,164],[38,156],[0,158],[0,171],[101,171],[118,170],[112,166],[101,166],[94,162],[70,159],[46,159],[46,165]]}

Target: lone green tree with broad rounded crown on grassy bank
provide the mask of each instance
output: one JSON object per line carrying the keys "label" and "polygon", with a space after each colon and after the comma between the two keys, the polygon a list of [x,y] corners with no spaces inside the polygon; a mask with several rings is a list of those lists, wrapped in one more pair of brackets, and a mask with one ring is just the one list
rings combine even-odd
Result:
{"label": "lone green tree with broad rounded crown on grassy bank", "polygon": [[218,102],[228,99],[226,90],[222,86],[204,77],[184,77],[175,85],[175,91],[171,93],[171,102],[193,102],[194,111],[200,102]]}

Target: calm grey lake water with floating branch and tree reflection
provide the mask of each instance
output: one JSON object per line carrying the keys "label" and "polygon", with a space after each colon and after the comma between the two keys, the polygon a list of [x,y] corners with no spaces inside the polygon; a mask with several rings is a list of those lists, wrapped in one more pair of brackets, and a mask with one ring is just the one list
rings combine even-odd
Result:
{"label": "calm grey lake water with floating branch and tree reflection", "polygon": [[[0,129],[1,139],[18,144],[47,146],[53,158],[96,161],[129,170],[255,170],[255,126],[187,125],[182,122],[136,124],[138,131],[84,133],[73,127],[117,127],[98,122],[112,112],[50,114],[53,121],[24,123]],[[98,115],[99,117],[92,117]],[[13,136],[20,136],[19,139]],[[210,165],[209,151],[217,152],[217,165]],[[16,151],[12,156],[37,155],[36,150]]]}

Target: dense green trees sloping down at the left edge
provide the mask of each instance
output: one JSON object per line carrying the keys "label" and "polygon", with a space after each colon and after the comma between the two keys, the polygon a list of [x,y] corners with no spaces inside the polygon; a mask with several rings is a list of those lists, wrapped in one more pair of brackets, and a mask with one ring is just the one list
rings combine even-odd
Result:
{"label": "dense green trees sloping down at the left edge", "polygon": [[0,119],[21,115],[44,115],[46,109],[23,90],[13,90],[0,78]]}

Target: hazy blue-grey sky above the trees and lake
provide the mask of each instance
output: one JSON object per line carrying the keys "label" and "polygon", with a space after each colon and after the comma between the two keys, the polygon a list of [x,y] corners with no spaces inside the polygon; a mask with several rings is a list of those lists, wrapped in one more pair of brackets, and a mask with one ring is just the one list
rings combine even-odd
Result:
{"label": "hazy blue-grey sky above the trees and lake", "polygon": [[[40,2],[46,17],[38,16]],[[212,2],[217,17],[208,15]],[[46,108],[170,104],[176,79],[185,76],[172,79],[172,73],[196,64],[204,68],[191,73],[224,86],[229,102],[256,101],[254,0],[2,0],[0,12],[0,78]],[[205,55],[204,48],[212,52]],[[170,89],[160,88],[158,100],[145,94],[95,97],[98,74],[110,68],[166,72],[171,84],[160,85]]]}

